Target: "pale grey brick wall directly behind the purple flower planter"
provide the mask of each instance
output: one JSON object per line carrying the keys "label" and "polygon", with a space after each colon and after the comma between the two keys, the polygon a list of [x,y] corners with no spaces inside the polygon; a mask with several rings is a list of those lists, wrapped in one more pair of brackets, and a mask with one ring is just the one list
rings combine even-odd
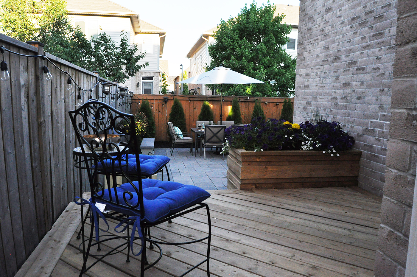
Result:
{"label": "pale grey brick wall directly behind the purple flower planter", "polygon": [[[382,196],[396,0],[301,0],[294,121],[321,108],[362,150],[359,186]],[[399,100],[401,101],[401,100]],[[414,120],[414,119],[413,119]],[[411,151],[411,150],[410,150]]]}

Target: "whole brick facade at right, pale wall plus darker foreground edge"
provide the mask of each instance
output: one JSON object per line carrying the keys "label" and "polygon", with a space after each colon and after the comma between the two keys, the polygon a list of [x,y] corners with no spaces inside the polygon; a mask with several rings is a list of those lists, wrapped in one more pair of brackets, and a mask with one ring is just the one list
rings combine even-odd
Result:
{"label": "whole brick facade at right, pale wall plus darker foreground edge", "polygon": [[416,1],[301,0],[294,120],[319,107],[350,124],[364,152],[359,186],[383,196],[375,277],[406,272],[417,161],[416,53]]}

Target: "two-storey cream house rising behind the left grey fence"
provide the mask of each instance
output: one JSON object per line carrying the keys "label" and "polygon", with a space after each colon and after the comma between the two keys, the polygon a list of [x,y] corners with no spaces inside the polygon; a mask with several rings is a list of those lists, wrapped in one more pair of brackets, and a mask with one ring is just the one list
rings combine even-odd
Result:
{"label": "two-storey cream house rising behind the left grey fence", "polygon": [[129,43],[136,43],[138,52],[146,51],[140,62],[149,65],[123,85],[134,93],[160,93],[160,58],[166,35],[163,29],[141,20],[135,11],[108,0],[71,0],[67,1],[67,10],[73,25],[80,26],[88,39],[97,37],[102,30],[120,43],[121,31],[126,31]]}

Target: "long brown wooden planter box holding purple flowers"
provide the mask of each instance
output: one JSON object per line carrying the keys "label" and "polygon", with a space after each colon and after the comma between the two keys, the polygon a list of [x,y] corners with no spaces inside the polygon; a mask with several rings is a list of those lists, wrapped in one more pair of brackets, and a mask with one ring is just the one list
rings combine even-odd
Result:
{"label": "long brown wooden planter box holding purple flowers", "polygon": [[227,158],[228,189],[289,189],[357,186],[362,151],[339,157],[319,151],[246,151]]}

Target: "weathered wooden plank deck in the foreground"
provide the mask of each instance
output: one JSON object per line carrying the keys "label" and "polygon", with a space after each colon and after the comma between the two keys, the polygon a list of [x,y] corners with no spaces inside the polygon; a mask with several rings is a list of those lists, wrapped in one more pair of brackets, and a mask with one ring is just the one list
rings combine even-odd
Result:
{"label": "weathered wooden plank deck in the foreground", "polygon": [[[376,196],[356,187],[211,192],[206,200],[213,227],[211,276],[374,276],[381,205]],[[202,232],[207,232],[204,212],[151,229],[167,241]],[[74,235],[50,276],[78,276],[79,243]],[[203,259],[196,252],[203,253],[205,244],[162,248],[164,257],[145,276],[178,276]],[[155,253],[149,256],[152,260]],[[138,276],[138,268],[138,259],[126,263],[119,253],[86,275]],[[206,277],[205,270],[202,266],[188,276]]]}

